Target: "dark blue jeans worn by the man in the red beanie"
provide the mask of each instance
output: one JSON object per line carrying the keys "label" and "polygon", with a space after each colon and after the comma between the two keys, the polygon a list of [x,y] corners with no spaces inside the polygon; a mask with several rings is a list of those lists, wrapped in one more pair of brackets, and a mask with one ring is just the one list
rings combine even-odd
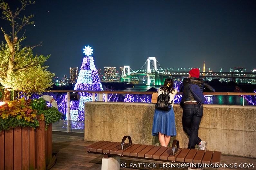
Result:
{"label": "dark blue jeans worn by the man in the red beanie", "polygon": [[183,107],[182,126],[189,136],[188,148],[195,149],[195,145],[201,142],[198,137],[198,129],[203,116],[203,105],[186,104]]}

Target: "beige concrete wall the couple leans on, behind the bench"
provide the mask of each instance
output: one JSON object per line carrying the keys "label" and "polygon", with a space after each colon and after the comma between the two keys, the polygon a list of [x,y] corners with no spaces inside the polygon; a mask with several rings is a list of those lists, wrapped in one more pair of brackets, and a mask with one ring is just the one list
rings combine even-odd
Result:
{"label": "beige concrete wall the couple leans on, behind the bench", "polygon": [[[86,102],[85,141],[121,142],[131,136],[132,143],[159,145],[152,136],[155,105],[151,103]],[[188,138],[182,128],[182,108],[174,105],[175,124],[181,148]],[[204,105],[199,137],[208,142],[207,149],[225,155],[256,158],[256,107]]]}

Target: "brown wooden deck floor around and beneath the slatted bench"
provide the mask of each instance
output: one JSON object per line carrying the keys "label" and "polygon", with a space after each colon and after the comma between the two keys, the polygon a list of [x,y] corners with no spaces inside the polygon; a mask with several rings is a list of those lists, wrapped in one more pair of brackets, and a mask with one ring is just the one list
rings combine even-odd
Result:
{"label": "brown wooden deck floor around and beneath the slatted bench", "polygon": [[[56,156],[57,161],[56,164],[51,168],[51,170],[60,170],[60,169],[72,169],[72,170],[81,170],[81,169],[92,169],[92,170],[100,170],[101,169],[101,159],[103,155],[98,154],[90,154],[84,151],[85,146],[89,146],[94,142],[86,142],[84,141],[84,134],[81,133],[66,133],[66,132],[57,132],[52,131],[52,152]],[[160,164],[158,161],[151,161],[151,160],[138,160],[134,161],[135,159],[130,158],[120,158],[120,164],[126,163],[126,167],[122,168],[122,170],[128,169],[187,169],[187,168],[164,168],[163,163]],[[222,155],[221,162],[224,166],[225,164],[234,165],[237,163],[239,164],[253,164],[254,167],[249,168],[218,168],[218,170],[229,170],[229,169],[256,169],[256,159],[253,158],[243,158],[243,157],[233,157],[233,156],[226,156]],[[142,167],[142,164],[149,165],[149,163],[155,163],[155,168],[145,168]],[[129,165],[132,164],[130,167]],[[136,167],[137,166],[137,167]],[[139,166],[141,166],[139,168]],[[168,166],[168,164],[167,164]],[[204,168],[203,168],[204,169]],[[205,168],[209,169],[209,168]]]}

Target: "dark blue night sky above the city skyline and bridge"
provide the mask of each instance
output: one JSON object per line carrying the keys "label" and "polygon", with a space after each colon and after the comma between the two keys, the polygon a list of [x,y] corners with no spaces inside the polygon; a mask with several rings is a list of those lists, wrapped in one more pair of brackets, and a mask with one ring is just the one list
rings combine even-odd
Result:
{"label": "dark blue night sky above the city skyline and bridge", "polygon": [[[5,2],[20,6],[17,0]],[[256,68],[255,0],[37,0],[21,16],[31,13],[35,24],[24,27],[22,44],[43,42],[34,53],[51,54],[45,64],[61,78],[69,77],[70,67],[81,67],[87,45],[101,70],[137,70],[147,57],[176,70],[202,70],[204,61],[213,71]],[[8,24],[0,20],[5,33],[11,31]]]}

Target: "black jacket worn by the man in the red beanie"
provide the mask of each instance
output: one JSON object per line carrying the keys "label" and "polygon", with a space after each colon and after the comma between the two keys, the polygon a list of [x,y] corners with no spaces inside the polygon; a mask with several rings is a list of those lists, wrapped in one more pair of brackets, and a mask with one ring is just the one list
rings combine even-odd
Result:
{"label": "black jacket worn by the man in the red beanie", "polygon": [[[207,83],[204,83],[204,80],[200,78],[190,77],[190,83],[198,85],[201,88],[202,92],[215,92],[215,89],[213,87],[211,87]],[[195,98],[189,89],[188,78],[183,79],[179,90],[180,92],[183,92],[182,98],[180,101],[181,107],[184,106],[184,103],[183,103],[184,101],[189,101],[189,100],[195,101]]]}

